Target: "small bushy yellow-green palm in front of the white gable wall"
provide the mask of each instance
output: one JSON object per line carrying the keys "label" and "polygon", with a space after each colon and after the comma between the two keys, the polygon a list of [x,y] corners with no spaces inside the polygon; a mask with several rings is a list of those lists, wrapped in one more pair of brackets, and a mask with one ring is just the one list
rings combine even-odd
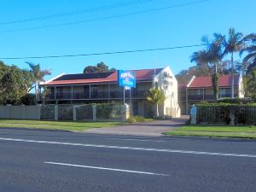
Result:
{"label": "small bushy yellow-green palm in front of the white gable wall", "polygon": [[166,100],[165,92],[157,88],[150,89],[150,92],[147,96],[148,102],[156,105],[156,116],[159,117],[159,106],[164,104]]}

